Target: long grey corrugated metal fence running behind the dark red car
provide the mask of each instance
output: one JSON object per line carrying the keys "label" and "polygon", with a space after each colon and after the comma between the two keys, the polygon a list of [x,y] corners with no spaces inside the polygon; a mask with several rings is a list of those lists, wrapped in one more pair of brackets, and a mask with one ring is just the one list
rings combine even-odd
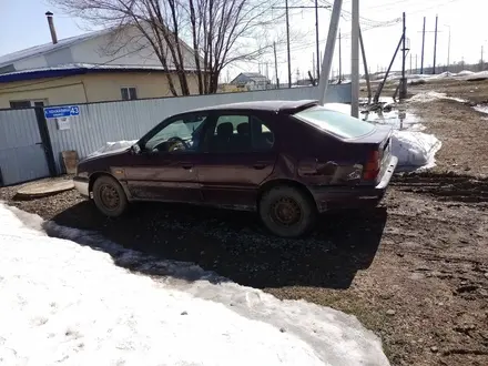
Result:
{"label": "long grey corrugated metal fence running behind the dark red car", "polygon": [[[84,157],[106,142],[136,140],[165,118],[187,110],[235,102],[311,99],[318,99],[317,87],[91,103],[80,104],[80,115],[71,116],[64,129],[60,129],[57,120],[47,123],[57,171],[62,173],[63,151],[75,150],[80,157]],[[349,103],[350,84],[329,85],[326,100]]]}

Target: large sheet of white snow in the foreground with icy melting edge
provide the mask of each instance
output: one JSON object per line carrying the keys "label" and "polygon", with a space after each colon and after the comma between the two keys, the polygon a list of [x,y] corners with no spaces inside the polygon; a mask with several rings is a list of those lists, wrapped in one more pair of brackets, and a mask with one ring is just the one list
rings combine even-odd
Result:
{"label": "large sheet of white snow in the foreground with icy melting edge", "polygon": [[4,365],[388,365],[379,339],[353,316],[282,302],[91,232],[43,224],[99,250],[40,226],[39,216],[0,203]]}

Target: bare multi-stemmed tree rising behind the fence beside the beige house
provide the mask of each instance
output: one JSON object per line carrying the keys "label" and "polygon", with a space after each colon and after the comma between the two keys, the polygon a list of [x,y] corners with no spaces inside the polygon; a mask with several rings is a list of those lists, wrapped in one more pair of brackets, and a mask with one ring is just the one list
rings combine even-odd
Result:
{"label": "bare multi-stemmed tree rising behind the fence beside the beige house", "polygon": [[[129,43],[149,48],[173,95],[189,95],[196,79],[200,94],[215,93],[222,70],[270,52],[267,31],[283,19],[279,0],[51,0],[93,26],[113,29],[113,54]],[[131,32],[136,30],[136,34]],[[135,38],[138,38],[135,40]],[[122,43],[121,43],[122,42]],[[176,75],[176,78],[172,75]],[[176,83],[175,83],[176,82]],[[179,87],[179,88],[177,88]]]}

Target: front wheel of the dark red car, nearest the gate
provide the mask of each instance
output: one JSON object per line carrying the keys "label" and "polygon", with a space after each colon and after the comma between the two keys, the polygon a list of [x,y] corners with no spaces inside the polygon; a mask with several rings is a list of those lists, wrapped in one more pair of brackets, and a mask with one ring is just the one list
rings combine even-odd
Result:
{"label": "front wheel of the dark red car, nearest the gate", "polygon": [[109,175],[102,175],[93,183],[93,201],[96,209],[110,217],[121,216],[129,206],[124,190]]}

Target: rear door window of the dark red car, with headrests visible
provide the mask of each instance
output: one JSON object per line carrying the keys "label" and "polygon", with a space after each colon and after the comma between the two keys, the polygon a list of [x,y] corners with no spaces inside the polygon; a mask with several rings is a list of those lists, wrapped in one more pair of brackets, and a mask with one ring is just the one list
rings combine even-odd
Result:
{"label": "rear door window of the dark red car, with headrests visible", "polygon": [[248,115],[223,114],[216,120],[213,133],[209,135],[210,152],[248,152],[252,150]]}

